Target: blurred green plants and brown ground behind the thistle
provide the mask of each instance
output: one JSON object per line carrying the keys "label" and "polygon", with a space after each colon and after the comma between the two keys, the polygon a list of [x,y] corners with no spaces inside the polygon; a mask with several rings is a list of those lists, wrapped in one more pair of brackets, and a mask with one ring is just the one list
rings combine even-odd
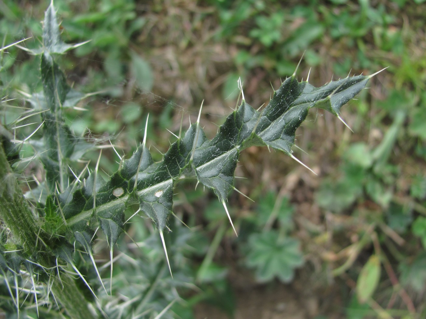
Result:
{"label": "blurred green plants and brown ground behind the thistle", "polygon": [[[3,43],[32,37],[22,45],[40,46],[48,5],[1,1]],[[321,111],[299,128],[296,144],[308,154],[296,155],[318,176],[280,153],[242,153],[236,175],[247,179],[236,187],[254,203],[239,193],[228,199],[238,238],[210,192],[178,185],[173,211],[189,228],[170,218],[173,232],[165,237],[174,279],[150,221],[127,225],[128,236],[116,249],[113,297],[102,295],[102,287],[97,293],[109,316],[426,316],[423,1],[58,0],[55,6],[65,42],[91,40],[60,60],[68,81],[82,92],[98,92],[80,109],[67,110],[66,121],[81,136],[104,145],[111,139],[121,155],[142,141],[149,113],[148,143],[160,160],[173,141],[167,129],[177,134],[182,114],[184,127],[196,121],[203,99],[201,123],[211,138],[236,104],[239,77],[246,100],[259,107],[269,101],[271,84],[277,88],[280,78],[293,74],[304,52],[298,77],[311,69],[316,86],[332,76],[389,66],[343,110],[354,133]],[[17,47],[1,52],[4,123],[27,106],[22,97],[40,91],[39,65],[39,58]],[[30,123],[23,123],[29,125],[17,139],[34,131]],[[21,157],[32,154],[32,147],[24,148]],[[117,157],[112,149],[102,154],[99,171],[107,176],[118,168]],[[94,166],[98,155],[85,158]],[[21,170],[32,176],[23,180],[24,191],[40,181],[38,165]],[[104,241],[94,255],[108,277]],[[85,258],[77,261],[79,269],[96,287]],[[28,295],[21,315],[35,317],[27,290],[20,290]],[[0,293],[0,307],[16,313],[6,282]],[[54,313],[55,304],[49,305]]]}

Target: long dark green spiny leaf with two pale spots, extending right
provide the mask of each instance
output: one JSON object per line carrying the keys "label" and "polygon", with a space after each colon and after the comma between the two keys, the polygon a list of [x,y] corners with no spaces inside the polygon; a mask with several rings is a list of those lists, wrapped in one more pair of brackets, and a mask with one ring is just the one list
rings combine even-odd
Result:
{"label": "long dark green spiny leaf with two pale spots, extending right", "polygon": [[[183,138],[179,134],[163,161],[158,163],[151,158],[145,136],[144,143],[132,157],[123,161],[120,169],[96,193],[88,187],[73,193],[63,207],[67,222],[71,227],[79,224],[83,229],[86,225],[80,222],[90,221],[96,211],[109,244],[115,244],[122,231],[125,208],[138,203],[141,211],[162,231],[172,213],[175,182],[181,178],[197,178],[225,203],[229,191],[234,189],[234,171],[242,149],[268,146],[293,157],[295,132],[308,110],[318,107],[339,115],[342,105],[360,92],[369,78],[359,75],[320,88],[298,82],[295,76],[287,78],[263,112],[256,111],[243,99],[212,140],[206,138],[197,120]],[[93,196],[96,196],[95,207]]]}

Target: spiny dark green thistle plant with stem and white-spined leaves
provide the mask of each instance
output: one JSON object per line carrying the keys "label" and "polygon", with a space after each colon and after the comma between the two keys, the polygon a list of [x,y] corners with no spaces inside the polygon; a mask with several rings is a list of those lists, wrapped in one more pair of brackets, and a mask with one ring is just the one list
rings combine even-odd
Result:
{"label": "spiny dark green thistle plant with stem and white-spined leaves", "polygon": [[[98,163],[93,171],[86,167],[81,172],[72,170],[73,162],[84,152],[95,147],[75,134],[64,124],[64,109],[75,107],[86,95],[76,92],[56,62],[56,55],[82,45],[68,45],[60,40],[59,25],[53,2],[46,11],[43,26],[43,47],[28,50],[40,55],[43,91],[26,95],[32,106],[12,123],[2,126],[0,147],[0,216],[3,230],[0,242],[0,275],[10,293],[12,306],[20,311],[20,284],[30,282],[29,291],[37,308],[39,299],[49,294],[59,308],[72,318],[88,318],[92,314],[68,266],[77,274],[96,299],[95,289],[86,281],[75,262],[77,250],[86,252],[100,280],[102,289],[111,293],[113,249],[127,222],[124,213],[135,204],[134,212],[152,219],[163,243],[165,259],[172,274],[164,231],[170,231],[168,218],[172,214],[173,190],[177,181],[193,178],[197,184],[210,188],[223,206],[234,232],[226,199],[234,186],[234,172],[242,150],[251,146],[266,146],[292,154],[296,129],[305,120],[309,109],[324,109],[340,118],[341,107],[354,98],[374,75],[357,75],[331,81],[316,88],[296,79],[296,72],[285,79],[273,92],[268,106],[253,109],[244,97],[209,140],[200,126],[201,110],[195,123],[176,135],[176,141],[154,162],[147,146],[147,127],[143,141],[129,158],[120,157],[120,167],[107,181],[98,174]],[[28,117],[40,117],[40,124],[31,135],[18,141],[7,129],[15,129]],[[36,131],[42,138],[36,139]],[[32,158],[16,159],[23,144],[34,149]],[[117,153],[118,154],[118,153]],[[99,155],[99,159],[101,154]],[[23,197],[14,170],[28,162],[41,161],[43,181]],[[300,161],[299,161],[300,162]],[[300,162],[301,163],[301,162]],[[238,191],[239,192],[239,191]],[[29,204],[31,203],[31,205]],[[92,254],[92,244],[99,233],[104,233],[110,250],[110,286],[106,287]],[[107,285],[108,286],[108,285]],[[47,288],[43,288],[47,287]],[[94,299],[94,300],[95,300]],[[11,306],[9,305],[9,306]]]}

